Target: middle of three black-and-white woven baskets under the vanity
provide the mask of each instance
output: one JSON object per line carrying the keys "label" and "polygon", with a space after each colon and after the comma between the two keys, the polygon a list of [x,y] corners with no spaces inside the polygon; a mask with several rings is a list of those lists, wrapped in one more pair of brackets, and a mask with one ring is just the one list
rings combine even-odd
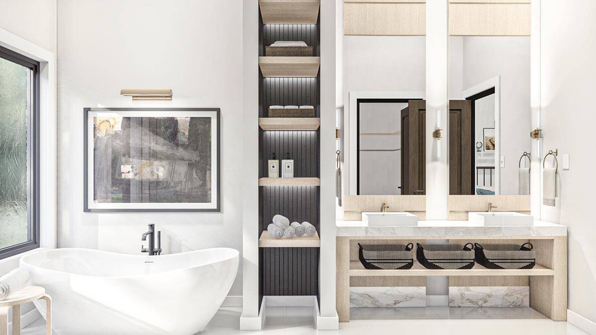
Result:
{"label": "middle of three black-and-white woven baskets under the vanity", "polygon": [[[416,259],[427,269],[471,269],[474,267],[474,244],[416,243]],[[469,246],[469,247],[468,247]]]}

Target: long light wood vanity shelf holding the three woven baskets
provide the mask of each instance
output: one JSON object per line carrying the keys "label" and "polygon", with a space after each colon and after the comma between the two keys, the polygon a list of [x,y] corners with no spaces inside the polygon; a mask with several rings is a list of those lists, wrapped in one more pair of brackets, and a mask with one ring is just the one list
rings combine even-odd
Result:
{"label": "long light wood vanity shelf holding the three woven baskets", "polygon": [[403,270],[369,270],[365,269],[361,262],[350,262],[350,277],[355,276],[493,276],[493,275],[542,275],[552,276],[555,271],[536,264],[532,269],[487,269],[482,265],[475,264],[471,269],[427,269],[414,260],[411,269]]}

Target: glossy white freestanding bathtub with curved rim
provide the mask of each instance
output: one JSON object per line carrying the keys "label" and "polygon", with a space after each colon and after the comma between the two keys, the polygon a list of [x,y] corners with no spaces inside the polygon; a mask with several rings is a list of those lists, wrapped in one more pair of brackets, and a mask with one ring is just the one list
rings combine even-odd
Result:
{"label": "glossy white freestanding bathtub with curved rim", "polygon": [[[238,251],[160,256],[51,249],[24,256],[31,284],[52,297],[58,334],[195,334],[224,302]],[[45,315],[45,303],[36,303]]]}

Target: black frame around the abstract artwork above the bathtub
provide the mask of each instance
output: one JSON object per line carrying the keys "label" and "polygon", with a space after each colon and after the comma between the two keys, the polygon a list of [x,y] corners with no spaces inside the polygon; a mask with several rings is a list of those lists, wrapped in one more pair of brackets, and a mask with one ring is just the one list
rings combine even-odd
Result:
{"label": "black frame around the abstract artwork above the bathtub", "polygon": [[[95,209],[89,208],[89,199],[88,199],[88,117],[89,112],[91,111],[215,111],[216,113],[216,198],[215,208],[206,208],[206,209]],[[84,212],[103,212],[103,213],[110,213],[110,212],[221,212],[221,109],[220,108],[116,108],[116,107],[109,107],[109,108],[90,108],[86,107],[83,108],[83,211]]]}

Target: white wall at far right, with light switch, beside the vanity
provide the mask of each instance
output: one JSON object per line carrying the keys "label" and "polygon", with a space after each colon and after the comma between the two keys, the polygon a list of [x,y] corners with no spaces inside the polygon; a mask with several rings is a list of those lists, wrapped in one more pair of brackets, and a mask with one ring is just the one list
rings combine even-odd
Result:
{"label": "white wall at far right, with light switch, beside the vanity", "polygon": [[[596,2],[542,1],[541,105],[544,150],[570,154],[560,170],[559,207],[542,206],[542,219],[569,226],[569,309],[596,322]],[[544,153],[543,153],[544,155]]]}

